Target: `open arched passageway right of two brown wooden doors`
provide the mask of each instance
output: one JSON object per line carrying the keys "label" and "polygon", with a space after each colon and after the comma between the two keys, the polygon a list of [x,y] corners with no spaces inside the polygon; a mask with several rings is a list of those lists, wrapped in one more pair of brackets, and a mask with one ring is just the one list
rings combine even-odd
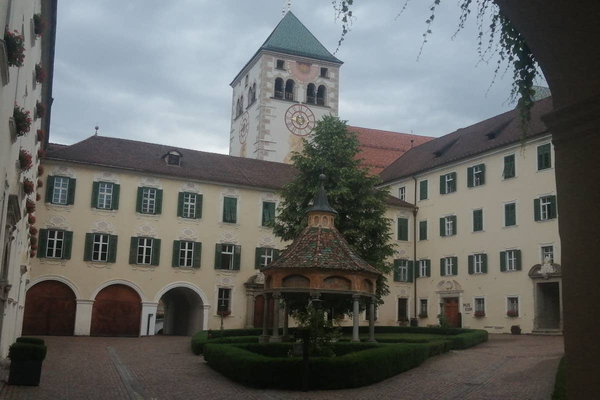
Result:
{"label": "open arched passageway right of two brown wooden doors", "polygon": [[163,308],[163,335],[191,336],[202,330],[203,301],[196,291],[188,287],[174,287],[161,296],[159,303]]}

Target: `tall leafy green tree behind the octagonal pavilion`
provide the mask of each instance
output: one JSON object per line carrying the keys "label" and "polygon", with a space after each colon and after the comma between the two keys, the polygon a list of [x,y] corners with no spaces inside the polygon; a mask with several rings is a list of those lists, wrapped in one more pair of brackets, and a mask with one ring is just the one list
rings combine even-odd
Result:
{"label": "tall leafy green tree behind the octagonal pavilion", "polygon": [[[329,204],[339,213],[335,227],[365,261],[383,273],[391,272],[386,261],[394,254],[391,219],[385,216],[388,190],[377,189],[379,176],[370,176],[360,166],[356,134],[348,131],[346,121],[324,116],[302,145],[302,152],[292,156],[298,174],[281,191],[275,235],[293,240],[307,226],[306,210],[319,189],[319,175],[325,173]],[[377,281],[379,302],[388,293],[382,276]]]}

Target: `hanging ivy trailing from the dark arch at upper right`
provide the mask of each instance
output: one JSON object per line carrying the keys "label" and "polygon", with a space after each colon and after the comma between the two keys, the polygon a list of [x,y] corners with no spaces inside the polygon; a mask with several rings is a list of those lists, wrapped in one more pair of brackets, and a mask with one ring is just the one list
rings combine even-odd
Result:
{"label": "hanging ivy trailing from the dark arch at upper right", "polygon": [[[423,42],[417,59],[421,56],[425,43],[427,43],[427,38],[432,33],[431,26],[436,17],[436,8],[441,1],[434,0],[430,6],[431,15],[425,20],[427,27],[422,35]],[[403,11],[406,10],[409,2],[410,0],[404,2],[396,18],[400,17]],[[340,49],[356,17],[352,15],[351,10],[354,0],[332,0],[332,4],[335,10],[335,20],[339,19],[342,22],[341,36],[340,40],[338,40],[335,54]],[[538,76],[538,62],[535,56],[531,49],[529,49],[529,46],[527,46],[521,32],[515,29],[508,17],[502,13],[502,10],[500,10],[493,0],[459,0],[458,7],[460,7],[461,14],[458,20],[457,31],[452,35],[452,38],[464,28],[464,24],[474,8],[476,10],[476,23],[478,26],[477,52],[479,53],[480,60],[488,62],[493,55],[497,54],[499,56],[490,86],[493,85],[498,74],[505,73],[512,65],[512,89],[509,94],[509,101],[511,103],[517,101],[517,109],[520,113],[521,128],[523,129],[524,136],[527,133],[527,127],[531,118],[531,109],[533,107],[533,96],[535,95],[533,82]],[[486,27],[487,23],[485,21],[488,18],[490,25]],[[488,28],[487,31],[485,31],[485,28]],[[487,43],[484,45],[486,35]],[[502,71],[504,64],[506,64],[506,67]]]}

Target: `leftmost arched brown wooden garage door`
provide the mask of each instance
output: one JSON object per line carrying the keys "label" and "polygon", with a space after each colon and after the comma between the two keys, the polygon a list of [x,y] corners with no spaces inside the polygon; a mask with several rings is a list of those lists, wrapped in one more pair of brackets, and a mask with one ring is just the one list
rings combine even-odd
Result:
{"label": "leftmost arched brown wooden garage door", "polygon": [[25,294],[23,335],[73,335],[75,293],[59,281],[43,281]]}

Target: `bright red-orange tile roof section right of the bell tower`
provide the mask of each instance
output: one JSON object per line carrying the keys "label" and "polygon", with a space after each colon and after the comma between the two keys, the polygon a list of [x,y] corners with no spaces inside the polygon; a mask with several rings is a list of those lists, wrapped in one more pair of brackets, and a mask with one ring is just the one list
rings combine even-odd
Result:
{"label": "bright red-orange tile roof section right of the bell tower", "polygon": [[[360,143],[361,152],[356,158],[362,160],[361,165],[367,167],[372,175],[382,172],[410,148],[434,139],[428,136],[360,127],[348,127],[348,130],[356,133]],[[410,140],[413,140],[413,143]]]}

